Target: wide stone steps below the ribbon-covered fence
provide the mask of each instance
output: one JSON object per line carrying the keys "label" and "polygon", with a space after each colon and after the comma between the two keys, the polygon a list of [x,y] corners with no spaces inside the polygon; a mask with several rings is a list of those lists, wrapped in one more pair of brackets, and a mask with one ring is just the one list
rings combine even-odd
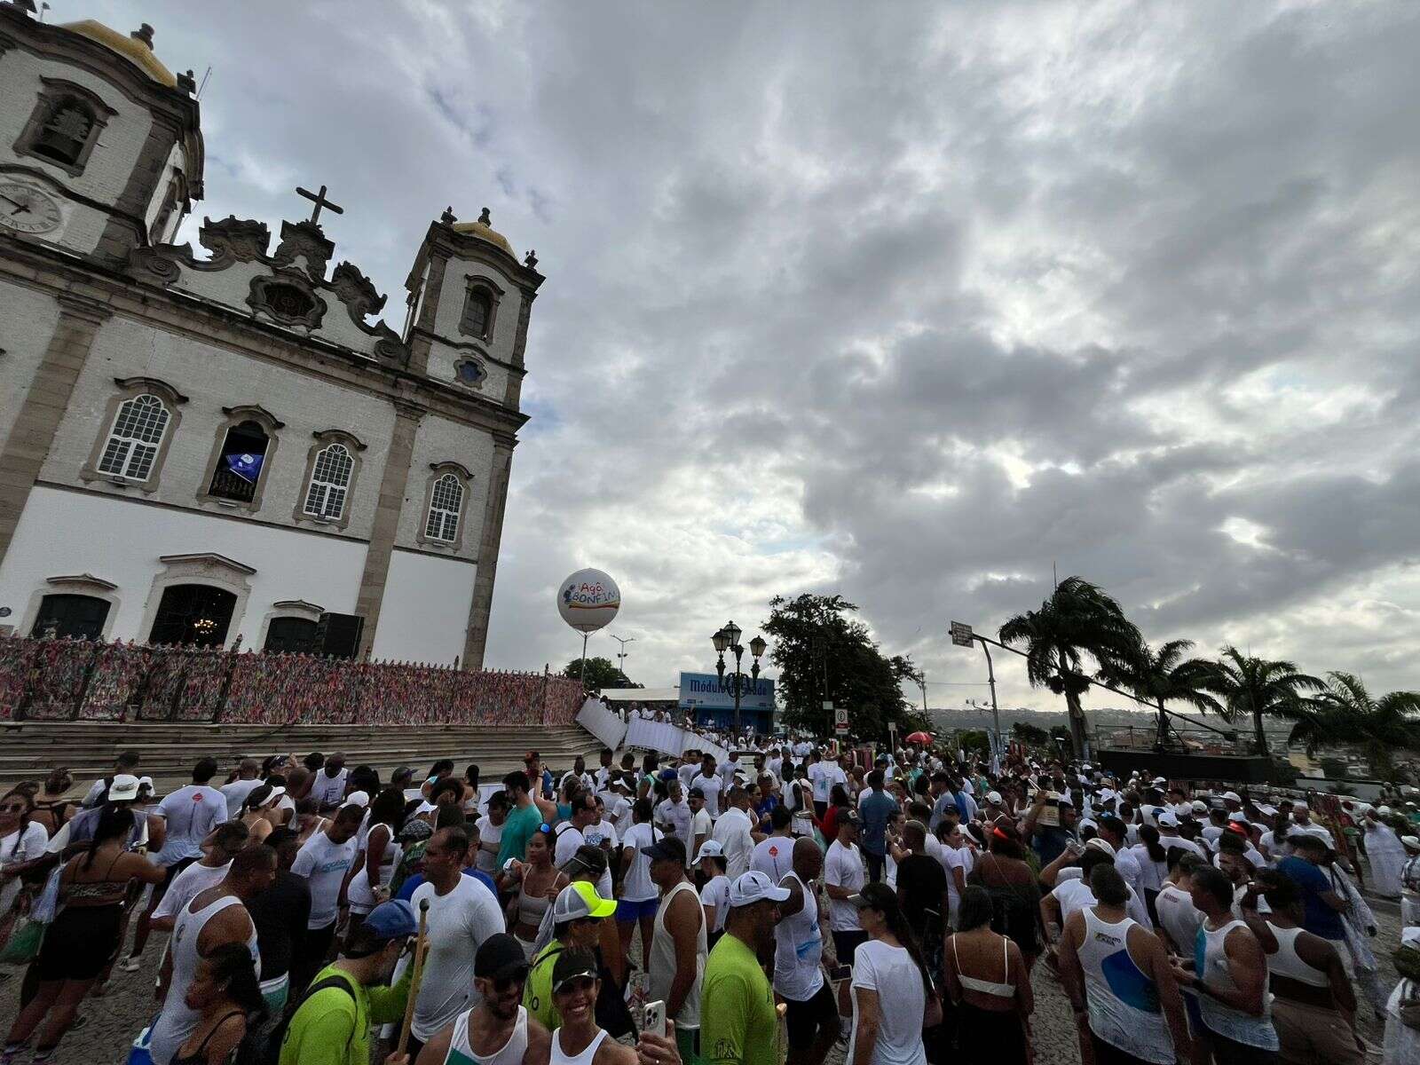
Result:
{"label": "wide stone steps below the ribbon-covered fence", "polygon": [[21,780],[43,780],[65,767],[77,784],[88,785],[112,772],[118,751],[142,755],[138,772],[153,778],[158,794],[190,781],[203,755],[217,760],[222,784],[241,757],[311,751],[345,751],[346,765],[373,765],[388,780],[399,765],[412,765],[416,778],[437,758],[453,758],[462,774],[477,764],[491,782],[523,768],[523,755],[535,750],[557,771],[578,755],[596,764],[601,743],[581,726],[508,724],[200,724],[118,721],[4,721],[0,723],[0,791]]}

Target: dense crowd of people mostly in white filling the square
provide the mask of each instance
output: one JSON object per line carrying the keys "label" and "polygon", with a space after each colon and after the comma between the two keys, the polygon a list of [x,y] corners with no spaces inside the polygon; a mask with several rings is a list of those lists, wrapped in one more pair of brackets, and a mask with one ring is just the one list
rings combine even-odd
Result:
{"label": "dense crowd of people mostly in white filling the square", "polygon": [[[1420,1062],[1403,811],[1323,824],[1227,785],[808,738],[598,763],[530,751],[486,784],[204,758],[155,801],[125,753],[82,795],[16,788],[11,960],[47,920],[0,1065],[50,1061],[141,970],[156,1065],[822,1065],[839,1042],[849,1065],[1014,1065],[1032,973],[1092,1065],[1359,1064],[1366,1011],[1384,1061]],[[1400,944],[1376,941],[1362,848]]]}

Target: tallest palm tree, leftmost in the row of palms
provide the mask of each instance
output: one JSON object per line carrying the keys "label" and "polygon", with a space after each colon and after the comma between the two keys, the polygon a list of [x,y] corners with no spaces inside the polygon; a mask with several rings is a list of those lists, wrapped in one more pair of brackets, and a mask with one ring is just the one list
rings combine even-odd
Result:
{"label": "tallest palm tree, leftmost in the row of palms", "polygon": [[1139,653],[1139,629],[1098,585],[1066,577],[1041,609],[1005,622],[1000,638],[1007,646],[1025,645],[1025,674],[1032,687],[1065,696],[1071,746],[1076,758],[1083,757],[1085,711],[1079,697],[1089,689],[1086,660],[1100,672],[1120,669]]}

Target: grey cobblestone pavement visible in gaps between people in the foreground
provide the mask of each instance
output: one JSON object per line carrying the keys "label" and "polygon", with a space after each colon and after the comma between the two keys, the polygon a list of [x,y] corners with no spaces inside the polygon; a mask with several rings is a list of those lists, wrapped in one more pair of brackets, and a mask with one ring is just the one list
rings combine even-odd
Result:
{"label": "grey cobblestone pavement visible in gaps between people in the foreground", "polygon": [[[1390,951],[1399,943],[1400,920],[1393,906],[1376,906],[1380,934],[1373,940],[1380,960],[1380,983],[1389,993],[1396,983]],[[115,973],[108,993],[102,998],[84,1003],[81,1015],[85,1024],[80,1031],[70,1032],[60,1047],[55,1065],[122,1065],[128,1061],[128,1049],[133,1037],[156,1012],[153,1001],[153,978],[158,960],[162,957],[165,937],[153,934],[143,954],[143,968],[138,973]],[[20,973],[0,968],[0,1025],[9,1031],[18,1008]],[[1042,964],[1035,966],[1032,978],[1035,988],[1035,1018],[1032,1034],[1037,1065],[1079,1065],[1079,1045],[1075,1038],[1075,1024],[1069,1001],[1059,981]],[[1360,997],[1358,988],[1358,997]],[[1373,1042],[1380,1042],[1380,1022],[1375,1014],[1362,1007],[1362,1032]],[[845,1048],[839,1044],[829,1055],[831,1065],[842,1065]],[[21,1056],[21,1062],[27,1058]]]}

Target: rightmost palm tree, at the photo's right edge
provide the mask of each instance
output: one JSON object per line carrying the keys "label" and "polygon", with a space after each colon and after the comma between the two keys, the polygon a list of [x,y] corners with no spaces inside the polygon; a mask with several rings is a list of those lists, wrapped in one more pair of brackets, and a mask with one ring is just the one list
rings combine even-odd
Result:
{"label": "rightmost palm tree, at the photo's right edge", "polygon": [[1295,726],[1291,741],[1314,754],[1323,743],[1360,743],[1377,780],[1394,774],[1394,751],[1420,747],[1420,692],[1373,699],[1355,673],[1326,674],[1326,689]]}

